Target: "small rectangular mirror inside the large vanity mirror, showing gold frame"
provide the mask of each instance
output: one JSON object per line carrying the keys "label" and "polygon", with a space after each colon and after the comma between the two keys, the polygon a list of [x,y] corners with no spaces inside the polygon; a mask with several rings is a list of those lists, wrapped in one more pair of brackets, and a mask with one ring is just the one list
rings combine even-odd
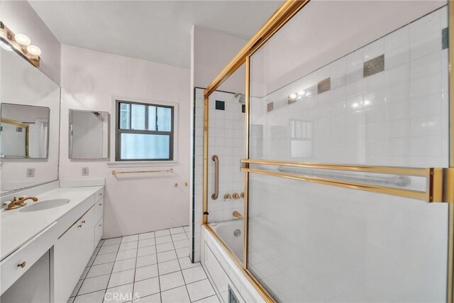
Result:
{"label": "small rectangular mirror inside the large vanity mirror, showing gold frame", "polygon": [[50,109],[1,104],[0,157],[48,158]]}

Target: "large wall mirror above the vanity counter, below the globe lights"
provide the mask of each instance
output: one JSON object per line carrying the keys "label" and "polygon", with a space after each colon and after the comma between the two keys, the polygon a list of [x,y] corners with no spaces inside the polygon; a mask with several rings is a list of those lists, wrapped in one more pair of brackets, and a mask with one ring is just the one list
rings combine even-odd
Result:
{"label": "large wall mirror above the vanity counter, below the globe lights", "polygon": [[0,103],[0,194],[58,180],[58,84],[0,48]]}

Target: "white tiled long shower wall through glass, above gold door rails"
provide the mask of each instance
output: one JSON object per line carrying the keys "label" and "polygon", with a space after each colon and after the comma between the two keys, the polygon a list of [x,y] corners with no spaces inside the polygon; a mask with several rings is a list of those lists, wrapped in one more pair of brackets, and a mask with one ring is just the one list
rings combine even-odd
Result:
{"label": "white tiled long shower wall through glass, above gold door rails", "polygon": [[251,123],[267,127],[262,158],[446,167],[447,26],[445,6],[254,98]]}

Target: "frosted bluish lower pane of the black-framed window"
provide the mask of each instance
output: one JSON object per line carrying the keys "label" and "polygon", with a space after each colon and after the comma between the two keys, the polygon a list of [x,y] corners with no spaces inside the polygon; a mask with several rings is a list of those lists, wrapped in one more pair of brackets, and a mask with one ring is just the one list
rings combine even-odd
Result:
{"label": "frosted bluish lower pane of the black-framed window", "polygon": [[121,159],[169,159],[170,136],[121,133]]}

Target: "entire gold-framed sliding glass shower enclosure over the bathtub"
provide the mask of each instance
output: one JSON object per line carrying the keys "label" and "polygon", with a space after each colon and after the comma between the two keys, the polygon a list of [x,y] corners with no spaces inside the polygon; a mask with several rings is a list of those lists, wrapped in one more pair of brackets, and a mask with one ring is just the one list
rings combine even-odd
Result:
{"label": "entire gold-framed sliding glass shower enclosure over the bathtub", "polygon": [[[453,302],[453,14],[287,1],[204,90],[201,223],[264,300]],[[238,256],[211,195],[216,90],[243,65]]]}

